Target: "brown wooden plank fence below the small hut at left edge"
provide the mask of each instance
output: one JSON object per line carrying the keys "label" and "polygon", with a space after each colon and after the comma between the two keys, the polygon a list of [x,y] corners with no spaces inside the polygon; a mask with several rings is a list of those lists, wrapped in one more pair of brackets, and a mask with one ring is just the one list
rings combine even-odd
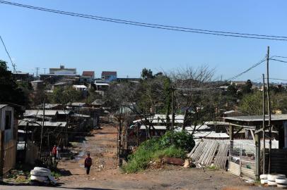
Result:
{"label": "brown wooden plank fence below the small hut at left edge", "polygon": [[16,140],[8,141],[8,143],[4,145],[4,168],[3,168],[4,173],[8,172],[13,167],[15,167],[16,150],[17,150]]}

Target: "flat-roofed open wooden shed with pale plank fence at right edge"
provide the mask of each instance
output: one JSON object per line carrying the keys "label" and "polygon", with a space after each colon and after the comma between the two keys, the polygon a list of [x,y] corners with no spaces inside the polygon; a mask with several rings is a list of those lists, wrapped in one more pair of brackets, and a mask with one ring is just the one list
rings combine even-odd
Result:
{"label": "flat-roofed open wooden shed with pale plank fence at right edge", "polygon": [[[254,179],[259,179],[262,173],[287,175],[287,115],[271,115],[271,127],[267,127],[268,116],[265,118],[265,129],[262,115],[224,118],[225,122],[229,122],[230,172]],[[242,129],[248,129],[252,134],[254,144],[251,148],[242,148],[242,144],[233,138]],[[277,136],[272,135],[275,131]]]}

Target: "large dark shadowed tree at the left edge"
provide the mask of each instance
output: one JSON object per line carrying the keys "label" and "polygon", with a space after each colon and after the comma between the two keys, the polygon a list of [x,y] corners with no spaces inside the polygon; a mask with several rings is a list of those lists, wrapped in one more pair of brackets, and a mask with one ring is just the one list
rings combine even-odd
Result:
{"label": "large dark shadowed tree at the left edge", "polygon": [[[13,79],[12,72],[8,70],[6,61],[0,60],[0,102],[15,103],[21,106],[28,106],[28,95]],[[21,108],[16,108],[17,114],[22,114]]]}

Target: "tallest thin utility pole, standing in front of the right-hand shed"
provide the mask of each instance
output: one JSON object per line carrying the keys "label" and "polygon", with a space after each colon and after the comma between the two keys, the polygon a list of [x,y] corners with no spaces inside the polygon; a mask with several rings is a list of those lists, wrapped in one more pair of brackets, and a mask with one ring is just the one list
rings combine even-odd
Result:
{"label": "tallest thin utility pole, standing in front of the right-hand shed", "polygon": [[267,47],[267,57],[266,57],[266,66],[267,66],[267,106],[268,106],[268,127],[269,127],[269,165],[268,173],[271,172],[271,105],[270,105],[270,90],[269,90],[269,46]]}

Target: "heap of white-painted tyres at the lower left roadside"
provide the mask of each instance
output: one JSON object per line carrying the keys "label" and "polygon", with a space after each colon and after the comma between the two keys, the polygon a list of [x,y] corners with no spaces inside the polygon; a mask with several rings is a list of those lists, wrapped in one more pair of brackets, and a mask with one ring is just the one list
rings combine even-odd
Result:
{"label": "heap of white-painted tyres at the lower left roadside", "polygon": [[51,170],[45,167],[34,167],[34,170],[30,172],[31,183],[43,183],[43,184],[57,184],[57,181],[52,177]]}

